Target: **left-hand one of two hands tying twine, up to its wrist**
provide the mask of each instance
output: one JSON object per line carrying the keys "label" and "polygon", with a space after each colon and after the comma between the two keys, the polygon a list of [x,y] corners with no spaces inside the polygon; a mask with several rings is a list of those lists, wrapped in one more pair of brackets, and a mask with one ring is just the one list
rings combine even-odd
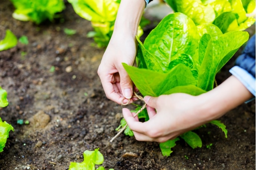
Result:
{"label": "left-hand one of two hands tying twine, up to its wrist", "polygon": [[[98,69],[107,98],[121,104],[130,99],[133,83],[122,63],[133,65],[136,55],[135,37],[128,34],[113,34]],[[130,100],[132,102],[132,99]],[[127,103],[124,100],[123,103]]]}

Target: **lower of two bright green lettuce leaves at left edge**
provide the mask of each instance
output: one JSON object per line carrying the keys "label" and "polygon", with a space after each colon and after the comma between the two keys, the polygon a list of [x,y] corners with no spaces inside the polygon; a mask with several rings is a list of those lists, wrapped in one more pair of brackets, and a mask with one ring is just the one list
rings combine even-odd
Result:
{"label": "lower of two bright green lettuce leaves at left edge", "polygon": [[8,124],[6,121],[3,122],[0,117],[0,152],[2,152],[5,147],[10,130],[14,131],[12,125]]}

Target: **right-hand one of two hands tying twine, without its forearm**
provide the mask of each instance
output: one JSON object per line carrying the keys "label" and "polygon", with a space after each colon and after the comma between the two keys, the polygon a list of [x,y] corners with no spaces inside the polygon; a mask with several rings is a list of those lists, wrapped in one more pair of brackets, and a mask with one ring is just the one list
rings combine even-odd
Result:
{"label": "right-hand one of two hands tying twine, without its forearm", "polygon": [[177,93],[146,96],[144,100],[149,114],[147,122],[138,122],[134,113],[123,109],[124,118],[138,141],[165,142],[207,122],[197,115],[202,102],[196,96]]}

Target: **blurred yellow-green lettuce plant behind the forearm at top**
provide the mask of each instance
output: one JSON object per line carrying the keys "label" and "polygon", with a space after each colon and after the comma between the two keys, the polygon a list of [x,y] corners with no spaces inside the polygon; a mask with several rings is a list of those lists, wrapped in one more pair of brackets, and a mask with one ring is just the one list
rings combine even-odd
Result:
{"label": "blurred yellow-green lettuce plant behind the forearm at top", "polygon": [[[106,47],[113,34],[114,24],[121,0],[68,0],[75,12],[82,18],[91,21],[94,31],[87,37],[93,37],[98,47]],[[142,19],[143,23],[146,19]],[[142,23],[142,22],[141,22]],[[147,23],[147,22],[146,22]],[[138,36],[143,34],[141,26]]]}

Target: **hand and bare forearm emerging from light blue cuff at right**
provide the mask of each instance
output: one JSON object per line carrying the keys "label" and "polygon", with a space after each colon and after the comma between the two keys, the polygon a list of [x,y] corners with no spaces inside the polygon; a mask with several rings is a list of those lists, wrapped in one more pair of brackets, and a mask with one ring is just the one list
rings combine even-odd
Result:
{"label": "hand and bare forearm emerging from light blue cuff at right", "polygon": [[138,122],[127,108],[123,115],[138,141],[165,142],[218,119],[229,110],[252,98],[250,91],[235,76],[198,96],[184,93],[145,96],[149,120]]}

